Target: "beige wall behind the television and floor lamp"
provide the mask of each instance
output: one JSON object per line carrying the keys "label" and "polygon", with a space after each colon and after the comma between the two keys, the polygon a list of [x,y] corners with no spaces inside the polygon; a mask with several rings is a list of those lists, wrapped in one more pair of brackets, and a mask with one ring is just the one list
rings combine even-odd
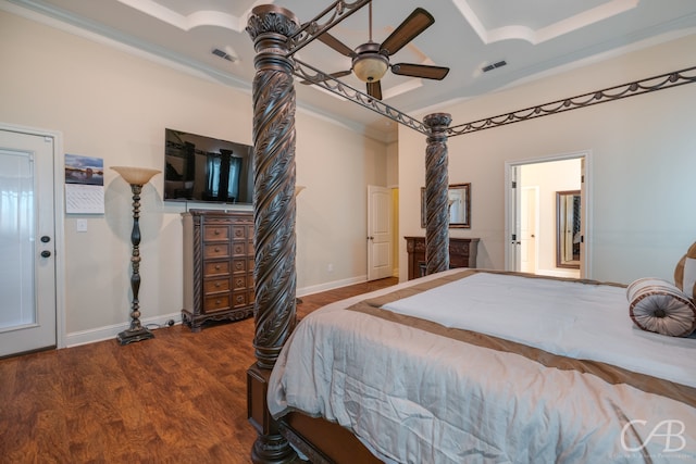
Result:
{"label": "beige wall behind the television and floor lamp", "polygon": [[[69,344],[111,337],[128,321],[132,209],[109,166],[162,168],[165,127],[250,143],[248,91],[2,11],[0,63],[0,122],[60,131],[66,153],[104,160],[105,214],[65,217],[65,318]],[[296,156],[298,293],[364,280],[366,186],[386,186],[386,146],[298,109]],[[164,203],[162,183],[141,200],[144,322],[183,301],[186,206]]]}

